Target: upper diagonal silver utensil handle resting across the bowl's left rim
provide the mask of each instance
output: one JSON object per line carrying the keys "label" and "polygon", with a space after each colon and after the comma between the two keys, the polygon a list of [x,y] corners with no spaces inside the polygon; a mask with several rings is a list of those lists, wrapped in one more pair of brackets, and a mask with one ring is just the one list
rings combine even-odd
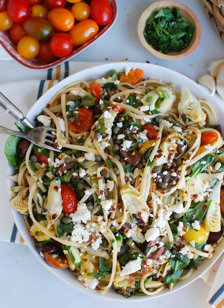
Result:
{"label": "upper diagonal silver utensil handle resting across the bowl's left rim", "polygon": [[11,116],[14,117],[17,121],[20,121],[28,128],[34,128],[33,124],[23,115],[23,112],[20,111],[12,102],[10,102],[7,97],[0,92],[0,106],[4,108]]}

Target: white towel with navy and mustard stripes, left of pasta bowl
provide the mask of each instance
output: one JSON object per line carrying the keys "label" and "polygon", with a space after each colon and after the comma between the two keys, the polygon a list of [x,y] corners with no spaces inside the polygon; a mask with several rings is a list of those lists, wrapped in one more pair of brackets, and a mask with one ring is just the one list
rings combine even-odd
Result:
{"label": "white towel with navy and mustard stripes, left of pasta bowl", "polygon": [[[48,70],[34,71],[23,67],[14,60],[0,61],[0,91],[26,114],[33,103],[59,80],[98,64],[102,63],[69,61]],[[16,129],[15,120],[2,108],[0,109],[0,119],[2,126]],[[0,147],[0,241],[24,244],[11,215],[9,196],[6,193],[6,180],[4,179],[4,176],[7,175],[7,161],[4,155],[6,139],[6,135],[0,135],[0,144],[2,145]]]}

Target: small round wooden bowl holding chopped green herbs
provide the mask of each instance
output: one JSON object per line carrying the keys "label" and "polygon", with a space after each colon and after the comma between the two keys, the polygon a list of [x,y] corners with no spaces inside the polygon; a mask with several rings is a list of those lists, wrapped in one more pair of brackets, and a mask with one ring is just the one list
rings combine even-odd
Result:
{"label": "small round wooden bowl holding chopped green herbs", "polygon": [[[159,11],[160,9],[163,9],[163,8],[166,8],[166,7],[169,7],[170,9],[172,9],[173,7],[179,8],[180,11],[181,11],[181,15],[183,17],[187,18],[189,20],[189,22],[194,26],[193,37],[190,40],[188,47],[186,47],[185,49],[183,49],[180,52],[169,52],[168,54],[164,54],[162,52],[159,52],[156,49],[154,49],[152,47],[152,45],[149,45],[146,42],[146,39],[145,39],[144,34],[143,34],[145,26],[146,26],[146,22],[147,22],[149,16],[151,15],[151,13],[154,10]],[[139,36],[139,40],[142,43],[143,47],[145,47],[145,49],[148,52],[150,52],[152,55],[154,55],[155,57],[160,58],[160,59],[164,59],[164,60],[177,60],[177,59],[187,57],[193,51],[195,51],[195,49],[198,47],[198,45],[201,41],[201,24],[198,21],[196,15],[193,13],[193,11],[190,10],[189,7],[185,6],[184,4],[181,4],[181,3],[176,2],[176,1],[169,1],[169,0],[157,1],[157,2],[154,2],[151,6],[149,6],[147,8],[147,10],[145,10],[142,13],[141,17],[139,18],[138,36]]]}

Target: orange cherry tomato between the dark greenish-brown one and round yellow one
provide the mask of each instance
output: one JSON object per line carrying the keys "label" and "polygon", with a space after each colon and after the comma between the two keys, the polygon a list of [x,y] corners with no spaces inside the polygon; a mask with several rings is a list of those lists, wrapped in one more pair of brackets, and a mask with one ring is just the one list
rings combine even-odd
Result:
{"label": "orange cherry tomato between the dark greenish-brown one and round yellow one", "polygon": [[58,31],[68,31],[75,23],[73,14],[63,8],[50,10],[48,13],[48,20]]}

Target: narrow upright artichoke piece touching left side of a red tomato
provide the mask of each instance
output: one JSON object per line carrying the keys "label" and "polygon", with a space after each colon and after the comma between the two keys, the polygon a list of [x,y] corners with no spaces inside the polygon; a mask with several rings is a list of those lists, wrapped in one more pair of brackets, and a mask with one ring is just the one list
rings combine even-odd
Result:
{"label": "narrow upright artichoke piece touching left side of a red tomato", "polygon": [[46,218],[48,220],[48,227],[58,218],[62,212],[62,198],[61,198],[61,182],[60,180],[53,180],[48,189],[48,197],[46,199],[45,209],[47,211]]}

